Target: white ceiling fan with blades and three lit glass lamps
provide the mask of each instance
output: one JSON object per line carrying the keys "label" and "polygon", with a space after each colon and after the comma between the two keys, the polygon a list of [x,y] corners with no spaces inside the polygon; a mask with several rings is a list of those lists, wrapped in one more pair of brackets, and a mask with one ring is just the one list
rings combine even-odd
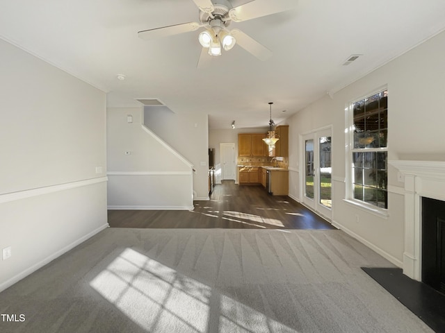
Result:
{"label": "white ceiling fan with blades and three lit glass lamps", "polygon": [[232,21],[243,22],[295,8],[298,1],[253,0],[237,7],[232,7],[229,0],[193,0],[193,2],[200,10],[200,23],[188,22],[139,31],[138,36],[144,40],[152,40],[204,28],[198,37],[202,52],[197,67],[205,67],[211,59],[209,56],[220,56],[221,49],[229,51],[235,44],[259,60],[270,58],[272,52],[266,46],[236,28],[229,31],[227,27]]}

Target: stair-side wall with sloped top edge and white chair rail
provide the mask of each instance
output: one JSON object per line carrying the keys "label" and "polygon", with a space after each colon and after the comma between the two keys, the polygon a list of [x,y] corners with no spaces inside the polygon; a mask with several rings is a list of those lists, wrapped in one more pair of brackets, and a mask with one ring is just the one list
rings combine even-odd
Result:
{"label": "stair-side wall with sloped top edge and white chair rail", "polygon": [[108,208],[193,209],[192,164],[143,126],[142,107],[108,108],[107,161]]}

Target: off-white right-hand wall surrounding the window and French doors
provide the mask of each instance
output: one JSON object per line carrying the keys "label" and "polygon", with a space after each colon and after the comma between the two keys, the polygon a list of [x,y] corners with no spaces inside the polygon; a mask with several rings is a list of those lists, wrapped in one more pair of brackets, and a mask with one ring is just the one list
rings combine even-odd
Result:
{"label": "off-white right-hand wall surrounding the window and French doors", "polygon": [[[389,160],[401,156],[443,160],[445,145],[445,33],[380,67],[371,74],[334,94],[324,96],[288,119],[289,168],[299,170],[301,143],[299,135],[323,126],[333,126],[333,221],[399,266],[403,262],[404,201],[403,183],[398,182],[394,167],[389,166],[389,208],[387,219],[346,203],[343,181],[346,177],[345,107],[351,101],[388,87]],[[296,171],[290,182],[290,194],[300,199]],[[359,223],[355,221],[359,215]]]}

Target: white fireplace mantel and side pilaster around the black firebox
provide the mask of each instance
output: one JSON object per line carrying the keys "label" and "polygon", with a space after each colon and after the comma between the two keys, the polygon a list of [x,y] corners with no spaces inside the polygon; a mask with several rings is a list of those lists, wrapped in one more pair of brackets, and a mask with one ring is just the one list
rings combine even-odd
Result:
{"label": "white fireplace mantel and side pilaster around the black firebox", "polygon": [[445,200],[445,162],[391,160],[405,180],[403,273],[421,281],[421,198]]}

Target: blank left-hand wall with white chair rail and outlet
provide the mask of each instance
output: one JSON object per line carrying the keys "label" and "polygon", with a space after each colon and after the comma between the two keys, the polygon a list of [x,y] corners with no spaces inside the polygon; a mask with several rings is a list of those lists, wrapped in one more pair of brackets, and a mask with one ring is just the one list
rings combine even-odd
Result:
{"label": "blank left-hand wall with white chair rail and outlet", "polygon": [[1,291],[108,223],[104,92],[3,40],[0,73]]}

